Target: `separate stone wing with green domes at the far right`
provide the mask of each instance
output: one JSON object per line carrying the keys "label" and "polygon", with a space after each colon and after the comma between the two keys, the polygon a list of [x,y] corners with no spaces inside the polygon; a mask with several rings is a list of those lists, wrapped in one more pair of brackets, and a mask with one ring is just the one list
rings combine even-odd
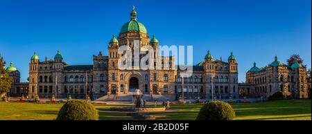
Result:
{"label": "separate stone wing with green domes at the far right", "polygon": [[266,98],[280,90],[294,99],[307,98],[306,77],[305,66],[298,63],[288,66],[275,57],[272,64],[263,68],[257,68],[254,64],[254,67],[246,73],[246,83],[241,84],[241,91],[242,95],[247,97]]}

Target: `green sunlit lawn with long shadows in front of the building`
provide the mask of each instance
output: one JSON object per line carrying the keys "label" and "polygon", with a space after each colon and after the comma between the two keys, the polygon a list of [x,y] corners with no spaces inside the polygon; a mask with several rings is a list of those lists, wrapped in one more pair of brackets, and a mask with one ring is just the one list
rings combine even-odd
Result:
{"label": "green sunlit lawn with long shadows in front of the building", "polygon": [[[311,120],[311,99],[280,100],[274,102],[231,104],[236,119],[300,119]],[[55,119],[62,104],[35,104],[0,102],[0,120]],[[128,104],[95,104],[99,111],[110,107],[125,107]],[[173,112],[150,113],[162,116],[157,119],[196,119],[202,104],[171,104]],[[132,119],[126,113],[99,112],[100,119]]]}

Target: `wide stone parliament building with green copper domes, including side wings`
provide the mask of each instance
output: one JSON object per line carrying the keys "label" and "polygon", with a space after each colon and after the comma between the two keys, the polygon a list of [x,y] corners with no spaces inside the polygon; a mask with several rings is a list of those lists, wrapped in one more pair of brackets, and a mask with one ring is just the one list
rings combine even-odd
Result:
{"label": "wide stone parliament building with green copper domes, including side wings", "polygon": [[[135,40],[139,40],[139,50],[143,50],[143,46],[155,49],[151,54],[153,58],[148,59],[148,63],[153,63],[149,66],[155,69],[146,70],[140,66],[124,70],[119,68],[122,57],[118,52],[119,47],[129,46],[133,49]],[[92,99],[109,99],[131,95],[138,88],[146,96],[167,99],[181,99],[182,96],[184,99],[239,99],[269,96],[282,90],[297,98],[307,97],[306,68],[297,62],[293,66],[286,66],[276,57],[272,64],[264,68],[254,64],[246,74],[246,82],[239,84],[239,64],[233,52],[229,52],[227,60],[223,61],[221,58],[215,59],[208,51],[202,57],[202,62],[192,66],[191,77],[181,77],[180,73],[184,70],[175,64],[175,57],[159,55],[156,50],[158,46],[155,35],[150,37],[144,24],[137,21],[137,12],[133,8],[130,21],[121,27],[119,36],[113,35],[110,39],[108,55],[102,52],[93,55],[92,65],[69,65],[60,51],[53,59],[44,60],[35,52],[29,63],[27,91],[23,93],[30,98],[51,98],[52,95],[66,98],[71,95],[72,98],[82,99],[87,94]],[[139,59],[143,56],[139,55]],[[161,69],[156,69],[158,65]],[[17,71],[10,70],[10,74],[14,75]],[[15,74],[15,77],[19,79],[19,74]],[[20,95],[21,91],[18,93],[14,88],[12,86],[10,93]]]}

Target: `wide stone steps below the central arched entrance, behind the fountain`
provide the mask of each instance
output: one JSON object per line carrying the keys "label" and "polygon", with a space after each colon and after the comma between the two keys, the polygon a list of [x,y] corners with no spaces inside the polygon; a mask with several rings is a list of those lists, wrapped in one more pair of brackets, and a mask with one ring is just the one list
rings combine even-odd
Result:
{"label": "wide stone steps below the central arched entrance, behind the fountain", "polygon": [[[175,100],[175,95],[151,95],[144,94],[142,99],[145,99],[148,102],[153,102],[155,99],[157,101],[173,101]],[[96,101],[116,101],[116,102],[133,102],[133,93],[128,94],[119,94],[119,95],[105,95],[96,99]]]}

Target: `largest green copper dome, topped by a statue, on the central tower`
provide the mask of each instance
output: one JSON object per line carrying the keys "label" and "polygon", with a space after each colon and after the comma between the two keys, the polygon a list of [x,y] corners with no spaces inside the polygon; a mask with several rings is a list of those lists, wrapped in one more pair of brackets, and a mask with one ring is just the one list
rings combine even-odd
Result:
{"label": "largest green copper dome, topped by a statue, on the central tower", "polygon": [[120,33],[136,31],[136,32],[144,32],[147,33],[147,30],[143,23],[137,21],[137,12],[135,12],[135,6],[133,6],[133,10],[130,13],[131,19],[129,22],[125,23],[123,27],[121,27]]}

